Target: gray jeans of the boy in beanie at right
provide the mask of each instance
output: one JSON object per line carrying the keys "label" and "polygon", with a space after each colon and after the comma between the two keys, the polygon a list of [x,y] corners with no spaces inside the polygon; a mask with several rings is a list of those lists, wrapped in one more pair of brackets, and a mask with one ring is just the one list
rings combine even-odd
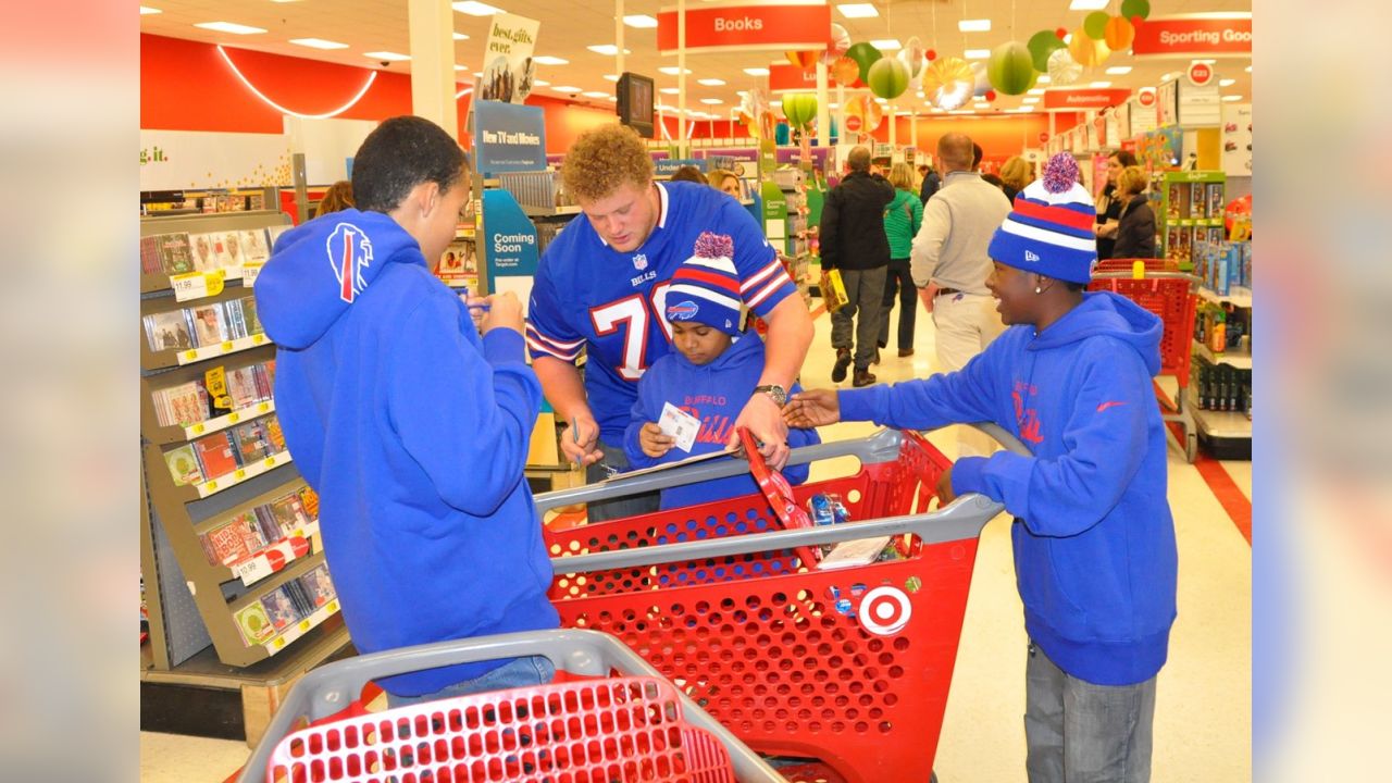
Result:
{"label": "gray jeans of the boy in beanie at right", "polygon": [[1094,685],[1030,642],[1025,744],[1030,783],[1148,783],[1155,677]]}

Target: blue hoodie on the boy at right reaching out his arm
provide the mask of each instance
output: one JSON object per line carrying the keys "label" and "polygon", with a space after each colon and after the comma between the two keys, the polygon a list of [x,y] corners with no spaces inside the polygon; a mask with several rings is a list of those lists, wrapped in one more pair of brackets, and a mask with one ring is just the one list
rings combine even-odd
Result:
{"label": "blue hoodie on the boy at right reaching out his arm", "polygon": [[1155,676],[1175,620],[1175,525],[1151,390],[1160,336],[1160,319],[1130,300],[1086,294],[1038,334],[1008,329],[960,372],[839,397],[844,419],[994,421],[1033,451],[959,460],[952,489],[1015,514],[1025,627],[1059,669],[1100,685]]}

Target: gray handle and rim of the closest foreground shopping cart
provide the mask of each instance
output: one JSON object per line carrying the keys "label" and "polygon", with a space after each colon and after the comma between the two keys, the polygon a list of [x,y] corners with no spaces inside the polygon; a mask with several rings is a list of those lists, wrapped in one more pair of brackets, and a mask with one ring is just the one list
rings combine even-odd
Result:
{"label": "gray handle and rim of the closest foreground shopping cart", "polygon": [[[405,674],[440,666],[496,660],[525,655],[544,655],[558,670],[592,677],[607,676],[617,670],[625,676],[657,677],[663,674],[653,669],[624,642],[600,631],[558,630],[497,634],[408,646],[373,655],[362,655],[329,663],[305,674],[287,694],[266,734],[256,745],[256,752],[246,761],[238,783],[264,783],[266,761],[271,750],[292,730],[301,716],[322,720],[345,709],[369,680]],[[729,752],[735,776],[741,783],[785,783],[759,754],[749,750],[728,729],[721,726],[686,694],[682,699],[682,713],[688,723],[715,736]]]}

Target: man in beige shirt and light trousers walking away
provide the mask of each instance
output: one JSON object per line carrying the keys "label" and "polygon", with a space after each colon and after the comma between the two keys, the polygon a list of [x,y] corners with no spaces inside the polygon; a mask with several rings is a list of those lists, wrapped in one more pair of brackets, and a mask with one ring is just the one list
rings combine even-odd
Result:
{"label": "man in beige shirt and light trousers walking away", "polygon": [[[972,171],[972,139],[938,139],[942,189],[923,208],[923,227],[913,238],[909,269],[923,307],[937,326],[938,371],[955,372],[980,354],[1005,326],[986,288],[991,234],[1011,212],[1001,188]],[[962,454],[988,454],[991,440],[974,431],[958,436]]]}

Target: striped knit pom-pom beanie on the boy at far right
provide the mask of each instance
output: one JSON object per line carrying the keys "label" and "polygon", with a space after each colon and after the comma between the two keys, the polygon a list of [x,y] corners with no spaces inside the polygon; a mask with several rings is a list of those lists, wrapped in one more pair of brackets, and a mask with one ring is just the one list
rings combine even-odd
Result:
{"label": "striped knit pom-pom beanie on the boy at far right", "polygon": [[1097,210],[1077,184],[1077,160],[1061,152],[1019,195],[991,237],[991,261],[1069,283],[1087,283],[1097,265]]}

